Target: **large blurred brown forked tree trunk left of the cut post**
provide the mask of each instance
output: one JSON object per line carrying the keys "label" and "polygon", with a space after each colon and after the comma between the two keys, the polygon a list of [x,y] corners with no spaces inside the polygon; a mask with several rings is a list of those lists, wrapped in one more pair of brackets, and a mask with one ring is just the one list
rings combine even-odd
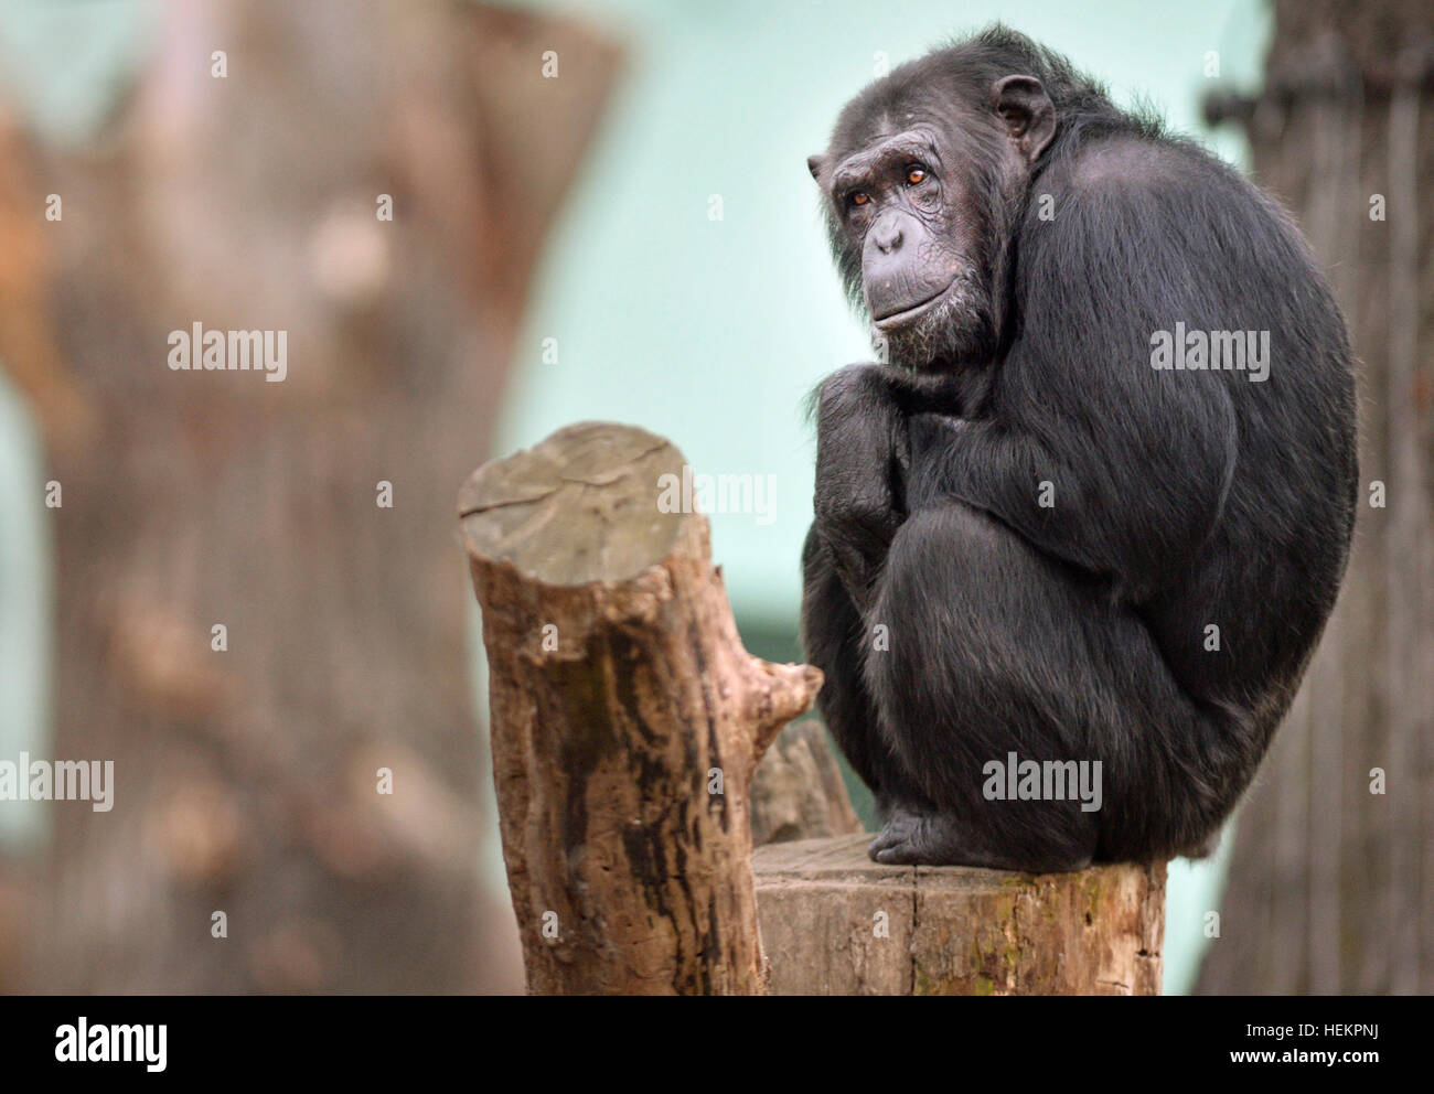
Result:
{"label": "large blurred brown forked tree trunk left of the cut post", "polygon": [[[53,341],[0,315],[63,489],[54,756],[116,761],[113,812],[54,809],[22,986],[518,989],[453,496],[617,54],[469,3],[161,11],[105,146],[32,151]],[[287,380],[171,371],[194,323],[288,331]]]}

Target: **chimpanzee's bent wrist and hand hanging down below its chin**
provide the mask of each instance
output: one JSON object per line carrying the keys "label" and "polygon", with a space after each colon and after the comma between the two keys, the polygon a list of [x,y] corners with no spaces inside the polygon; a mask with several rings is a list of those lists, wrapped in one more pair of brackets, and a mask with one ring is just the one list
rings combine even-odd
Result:
{"label": "chimpanzee's bent wrist and hand hanging down below its chin", "polygon": [[860,611],[906,519],[906,420],[888,371],[852,364],[817,391],[816,525]]}

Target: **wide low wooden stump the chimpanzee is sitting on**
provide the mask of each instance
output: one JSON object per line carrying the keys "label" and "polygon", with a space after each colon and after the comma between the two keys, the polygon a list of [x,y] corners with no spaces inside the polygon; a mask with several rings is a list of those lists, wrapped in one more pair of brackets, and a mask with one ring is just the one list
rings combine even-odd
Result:
{"label": "wide low wooden stump the chimpanzee is sitting on", "polygon": [[879,866],[865,833],[759,847],[773,995],[1156,995],[1164,863]]}

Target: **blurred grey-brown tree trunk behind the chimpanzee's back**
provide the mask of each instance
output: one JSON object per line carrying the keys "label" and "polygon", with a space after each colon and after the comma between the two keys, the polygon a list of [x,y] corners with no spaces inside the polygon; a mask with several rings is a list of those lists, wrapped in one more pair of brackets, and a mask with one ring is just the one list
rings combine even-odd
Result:
{"label": "blurred grey-brown tree trunk behind the chimpanzee's back", "polygon": [[1428,994],[1434,4],[1276,0],[1250,108],[1255,175],[1295,212],[1349,321],[1365,493],[1339,607],[1240,814],[1200,988]]}

